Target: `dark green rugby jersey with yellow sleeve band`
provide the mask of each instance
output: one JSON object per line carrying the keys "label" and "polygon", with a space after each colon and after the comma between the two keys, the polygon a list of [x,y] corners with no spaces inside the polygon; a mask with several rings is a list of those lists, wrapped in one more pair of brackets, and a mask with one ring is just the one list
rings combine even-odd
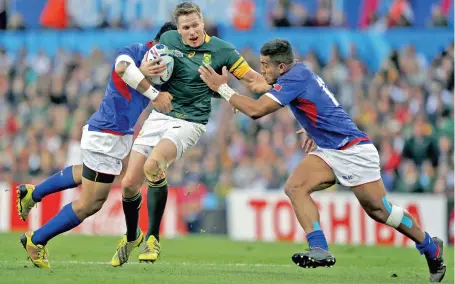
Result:
{"label": "dark green rugby jersey with yellow sleeve band", "polygon": [[174,57],[174,70],[161,88],[171,93],[173,110],[167,115],[191,122],[207,124],[214,92],[200,78],[198,68],[210,64],[221,73],[226,66],[237,79],[243,78],[250,66],[230,43],[217,37],[205,36],[199,47],[185,45],[178,31],[168,31],[160,38]]}

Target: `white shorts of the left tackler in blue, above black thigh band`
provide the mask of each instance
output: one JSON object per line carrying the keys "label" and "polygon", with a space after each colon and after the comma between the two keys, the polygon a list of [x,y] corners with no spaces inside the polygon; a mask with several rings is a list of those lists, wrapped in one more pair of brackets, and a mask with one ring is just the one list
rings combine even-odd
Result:
{"label": "white shorts of the left tackler in blue, above black thigh band", "polygon": [[82,128],[82,162],[90,169],[109,175],[120,175],[122,160],[128,156],[133,135],[115,135]]}

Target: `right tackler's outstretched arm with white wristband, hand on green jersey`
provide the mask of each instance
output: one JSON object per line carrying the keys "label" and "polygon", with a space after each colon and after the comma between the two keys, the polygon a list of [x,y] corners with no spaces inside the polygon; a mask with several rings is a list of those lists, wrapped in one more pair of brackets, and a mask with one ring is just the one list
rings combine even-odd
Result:
{"label": "right tackler's outstretched arm with white wristband, hand on green jersey", "polygon": [[215,92],[218,92],[226,99],[234,108],[248,115],[252,119],[261,118],[269,113],[279,110],[282,106],[268,97],[262,95],[258,100],[242,96],[227,85],[228,71],[223,67],[222,75],[219,75],[213,70],[210,65],[199,67],[201,79],[207,86]]}

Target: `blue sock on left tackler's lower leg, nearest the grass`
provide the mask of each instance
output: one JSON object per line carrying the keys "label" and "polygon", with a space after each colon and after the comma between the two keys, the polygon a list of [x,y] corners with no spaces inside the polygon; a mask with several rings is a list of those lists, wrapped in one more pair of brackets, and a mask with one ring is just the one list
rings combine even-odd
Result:
{"label": "blue sock on left tackler's lower leg, nearest the grass", "polygon": [[46,245],[53,237],[77,227],[80,223],[81,220],[74,213],[71,203],[66,204],[54,218],[33,233],[32,242],[35,245]]}

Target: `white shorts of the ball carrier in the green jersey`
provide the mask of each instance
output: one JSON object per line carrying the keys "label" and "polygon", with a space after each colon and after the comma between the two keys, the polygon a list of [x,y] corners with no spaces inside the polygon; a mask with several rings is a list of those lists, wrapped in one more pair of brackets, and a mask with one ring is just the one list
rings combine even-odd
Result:
{"label": "white shorts of the ball carrier in the green jersey", "polygon": [[133,150],[148,157],[161,139],[171,140],[177,147],[177,158],[191,149],[206,131],[206,126],[152,111],[134,140]]}

